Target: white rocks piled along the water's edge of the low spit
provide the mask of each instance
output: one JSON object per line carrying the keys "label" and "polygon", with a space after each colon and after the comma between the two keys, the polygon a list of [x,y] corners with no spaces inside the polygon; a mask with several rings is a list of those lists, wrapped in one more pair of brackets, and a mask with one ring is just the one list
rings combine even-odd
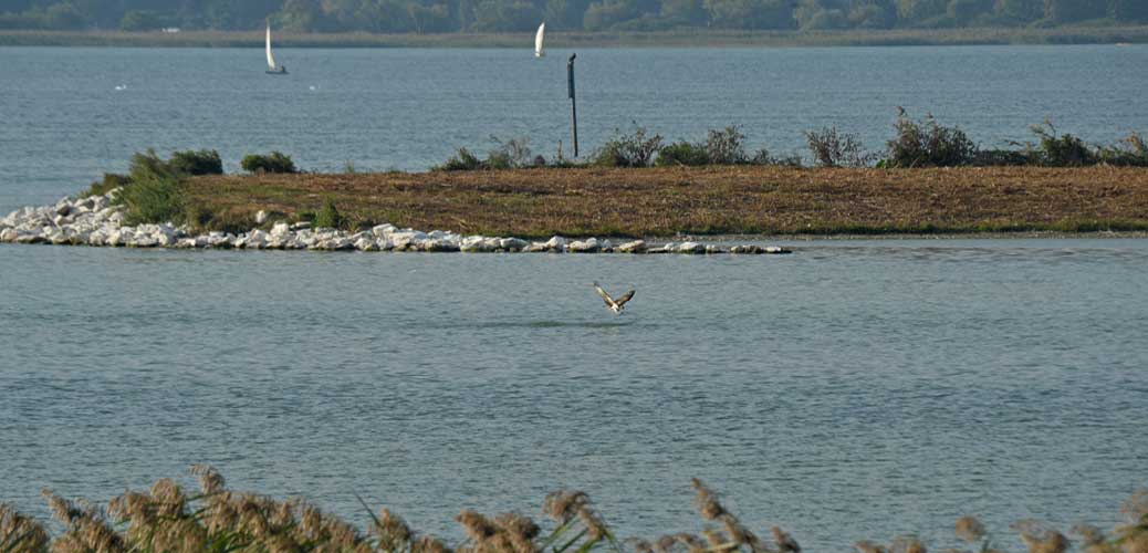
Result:
{"label": "white rocks piled along the water's edge of the low spit", "polygon": [[[464,236],[448,231],[422,232],[378,225],[350,233],[334,228],[311,228],[310,223],[276,223],[270,231],[194,234],[172,224],[124,224],[123,209],[115,203],[118,189],[104,195],[65,197],[54,205],[21,208],[0,219],[0,242],[23,244],[69,244],[127,248],[325,250],[325,251],[464,251],[464,252],[569,252],[569,254],[790,254],[781,247],[755,244],[722,246],[701,242],[646,243],[631,240],[613,243],[589,237],[548,241],[518,237]],[[266,223],[266,215],[256,218]]]}

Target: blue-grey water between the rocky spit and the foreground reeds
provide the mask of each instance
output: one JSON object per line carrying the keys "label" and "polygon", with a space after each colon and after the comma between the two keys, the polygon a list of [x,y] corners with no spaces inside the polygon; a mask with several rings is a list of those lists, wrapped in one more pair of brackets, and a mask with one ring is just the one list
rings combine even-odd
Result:
{"label": "blue-grey water between the rocky spit and the foreground reeds", "polygon": [[[0,497],[210,462],[457,536],[561,486],[697,530],[689,478],[810,551],[1115,521],[1145,483],[1148,241],[784,257],[0,247]],[[635,286],[615,317],[590,288]],[[1018,543],[1018,542],[1017,542]],[[955,544],[953,544],[955,545]]]}

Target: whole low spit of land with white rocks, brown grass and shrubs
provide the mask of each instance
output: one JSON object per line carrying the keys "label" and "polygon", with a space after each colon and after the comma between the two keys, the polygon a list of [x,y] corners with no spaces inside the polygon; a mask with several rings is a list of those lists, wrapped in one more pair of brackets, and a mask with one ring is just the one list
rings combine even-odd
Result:
{"label": "whole low spit of land with white rocks, brown grass and shrubs", "polygon": [[[750,154],[736,127],[664,145],[637,128],[584,161],[501,141],[430,171],[301,172],[284,154],[225,174],[215,150],[149,150],[129,174],[0,219],[0,241],[169,248],[788,252],[777,236],[1148,232],[1148,145],[1091,146],[1037,127],[1022,150],[982,150],[960,130],[902,112],[866,153],[809,133],[815,166]],[[731,246],[731,237],[752,242]],[[708,240],[705,240],[705,239]]]}

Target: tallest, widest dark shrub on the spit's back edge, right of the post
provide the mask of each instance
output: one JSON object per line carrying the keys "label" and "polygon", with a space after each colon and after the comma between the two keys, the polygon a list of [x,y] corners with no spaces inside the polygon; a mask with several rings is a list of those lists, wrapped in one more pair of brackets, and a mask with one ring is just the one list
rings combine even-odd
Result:
{"label": "tallest, widest dark shrub on the spit's back edge, right of the post", "polygon": [[968,165],[976,158],[977,146],[957,127],[937,123],[932,115],[910,119],[903,108],[898,108],[897,138],[890,140],[885,159],[892,168],[951,168]]}

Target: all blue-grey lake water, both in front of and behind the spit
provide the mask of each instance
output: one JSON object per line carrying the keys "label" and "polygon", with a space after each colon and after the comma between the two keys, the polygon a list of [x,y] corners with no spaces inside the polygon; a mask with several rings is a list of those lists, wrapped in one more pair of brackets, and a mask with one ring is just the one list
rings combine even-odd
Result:
{"label": "all blue-grey lake water, both in front of and behind the spit", "polygon": [[[564,53],[0,48],[0,212],[132,151],[278,148],[420,169],[487,135],[549,154]],[[794,150],[895,106],[987,145],[1053,116],[1148,130],[1146,47],[579,52],[583,141],[740,123]],[[124,89],[117,91],[117,86]],[[311,87],[315,87],[313,89]],[[793,244],[792,256],[360,255],[0,246],[0,500],[107,499],[193,462],[356,494],[458,537],[463,507],[588,491],[623,536],[698,530],[701,477],[809,551],[1102,525],[1148,483],[1148,241]],[[636,287],[626,314],[590,288]]]}

